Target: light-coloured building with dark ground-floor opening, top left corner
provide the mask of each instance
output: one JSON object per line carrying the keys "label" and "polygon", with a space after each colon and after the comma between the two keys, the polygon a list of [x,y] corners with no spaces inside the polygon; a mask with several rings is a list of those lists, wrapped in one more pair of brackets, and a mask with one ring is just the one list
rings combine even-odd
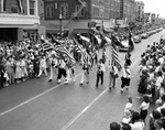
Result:
{"label": "light-coloured building with dark ground-floor opening, top left corner", "polygon": [[36,40],[37,0],[0,0],[0,41]]}

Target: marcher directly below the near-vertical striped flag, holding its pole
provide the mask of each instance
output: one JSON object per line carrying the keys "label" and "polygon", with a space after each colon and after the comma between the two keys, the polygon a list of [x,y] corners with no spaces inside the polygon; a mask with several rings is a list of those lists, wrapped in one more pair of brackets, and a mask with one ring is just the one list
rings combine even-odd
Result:
{"label": "marcher directly below the near-vertical striped flag, holding its pole", "polygon": [[110,73],[109,73],[109,90],[111,90],[111,88],[116,87],[116,79],[119,77],[119,71],[117,68],[116,65],[110,66]]}

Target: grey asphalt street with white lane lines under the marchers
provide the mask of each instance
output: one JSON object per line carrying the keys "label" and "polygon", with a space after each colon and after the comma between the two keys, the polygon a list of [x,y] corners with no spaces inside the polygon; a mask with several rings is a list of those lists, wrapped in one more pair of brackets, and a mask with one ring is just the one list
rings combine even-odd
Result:
{"label": "grey asphalt street with white lane lines under the marchers", "polygon": [[[165,37],[165,30],[135,44],[131,57],[131,85],[123,94],[120,94],[120,78],[116,88],[108,90],[108,68],[105,84],[98,89],[96,68],[90,73],[90,83],[79,86],[79,66],[76,67],[76,82],[69,85],[57,85],[55,78],[50,83],[48,77],[43,76],[0,90],[0,130],[109,130],[111,121],[121,121],[127,96],[133,97],[133,109],[139,111],[140,55],[148,44],[158,42],[161,35]],[[108,56],[109,52],[110,47],[107,47]],[[119,53],[122,65],[124,55]]]}

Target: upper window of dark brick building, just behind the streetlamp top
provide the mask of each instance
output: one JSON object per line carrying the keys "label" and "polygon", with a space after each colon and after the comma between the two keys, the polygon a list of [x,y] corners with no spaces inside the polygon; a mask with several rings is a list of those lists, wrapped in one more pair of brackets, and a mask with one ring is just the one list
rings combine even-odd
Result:
{"label": "upper window of dark brick building, just behind the streetlamp top", "polygon": [[67,3],[62,3],[59,8],[59,12],[63,15],[63,19],[68,18],[68,4]]}

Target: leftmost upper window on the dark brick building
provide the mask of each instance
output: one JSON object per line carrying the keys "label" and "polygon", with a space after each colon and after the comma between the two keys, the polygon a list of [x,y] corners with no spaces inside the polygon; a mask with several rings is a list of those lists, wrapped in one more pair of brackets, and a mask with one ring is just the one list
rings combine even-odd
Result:
{"label": "leftmost upper window on the dark brick building", "polygon": [[54,4],[46,3],[46,18],[54,18]]}

